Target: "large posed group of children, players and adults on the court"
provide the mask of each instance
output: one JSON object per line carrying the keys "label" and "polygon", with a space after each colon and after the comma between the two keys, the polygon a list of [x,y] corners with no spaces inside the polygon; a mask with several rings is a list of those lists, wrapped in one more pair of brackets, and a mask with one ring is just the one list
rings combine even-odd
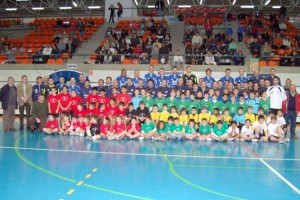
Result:
{"label": "large posed group of children, players and adults on the court", "polygon": [[[5,132],[16,131],[15,109],[19,107],[20,129],[46,134],[85,136],[90,140],[215,140],[270,141],[285,143],[288,125],[296,139],[295,125],[300,112],[300,95],[287,79],[285,86],[271,69],[261,77],[248,78],[240,69],[238,77],[225,75],[216,80],[212,70],[197,77],[190,66],[181,76],[177,67],[166,76],[154,66],[141,77],[128,77],[126,69],[112,79],[99,79],[91,86],[84,74],[67,85],[64,77],[37,77],[31,86],[23,75],[1,88]],[[26,111],[27,126],[24,125]]]}

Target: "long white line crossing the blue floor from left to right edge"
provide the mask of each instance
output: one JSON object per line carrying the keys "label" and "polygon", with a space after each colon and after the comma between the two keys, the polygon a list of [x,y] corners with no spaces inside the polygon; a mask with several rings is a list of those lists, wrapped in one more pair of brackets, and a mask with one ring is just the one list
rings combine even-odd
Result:
{"label": "long white line crossing the blue floor from left to right edge", "polygon": [[[198,156],[198,155],[176,155],[176,154],[149,154],[149,153],[123,153],[123,152],[107,152],[107,151],[82,151],[82,150],[67,150],[67,149],[42,149],[42,148],[27,148],[27,147],[6,147],[0,146],[0,149],[20,149],[32,151],[56,151],[69,153],[91,153],[91,154],[110,154],[110,155],[130,155],[130,156],[154,156],[154,157],[179,157],[179,158],[207,158],[207,159],[236,159],[236,160],[257,160],[256,157],[231,157],[231,156]],[[299,159],[289,158],[262,158],[264,160],[278,161],[300,161]]]}

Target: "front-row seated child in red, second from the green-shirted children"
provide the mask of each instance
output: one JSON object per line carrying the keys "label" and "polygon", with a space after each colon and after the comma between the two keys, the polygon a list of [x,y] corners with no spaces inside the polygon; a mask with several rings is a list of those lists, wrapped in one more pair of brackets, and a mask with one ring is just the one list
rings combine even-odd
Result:
{"label": "front-row seated child in red, second from the green-shirted children", "polygon": [[116,117],[116,122],[111,128],[111,133],[107,137],[108,140],[121,140],[127,134],[126,124],[123,122],[122,116],[118,115]]}

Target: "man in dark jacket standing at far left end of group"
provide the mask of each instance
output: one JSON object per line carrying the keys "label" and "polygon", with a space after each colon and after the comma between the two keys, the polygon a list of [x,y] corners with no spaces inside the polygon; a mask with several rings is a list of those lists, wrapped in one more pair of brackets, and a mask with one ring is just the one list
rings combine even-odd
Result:
{"label": "man in dark jacket standing at far left end of group", "polygon": [[0,101],[3,109],[3,128],[5,132],[16,131],[14,128],[15,109],[17,108],[17,88],[15,79],[8,77],[7,84],[1,88]]}

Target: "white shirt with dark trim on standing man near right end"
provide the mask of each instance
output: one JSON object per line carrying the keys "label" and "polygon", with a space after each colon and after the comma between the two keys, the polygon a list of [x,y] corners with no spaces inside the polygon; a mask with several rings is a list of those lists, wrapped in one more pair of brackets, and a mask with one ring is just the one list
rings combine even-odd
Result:
{"label": "white shirt with dark trim on standing man near right end", "polygon": [[279,85],[269,87],[267,96],[270,98],[270,108],[282,109],[282,102],[286,100],[286,93],[283,87]]}

